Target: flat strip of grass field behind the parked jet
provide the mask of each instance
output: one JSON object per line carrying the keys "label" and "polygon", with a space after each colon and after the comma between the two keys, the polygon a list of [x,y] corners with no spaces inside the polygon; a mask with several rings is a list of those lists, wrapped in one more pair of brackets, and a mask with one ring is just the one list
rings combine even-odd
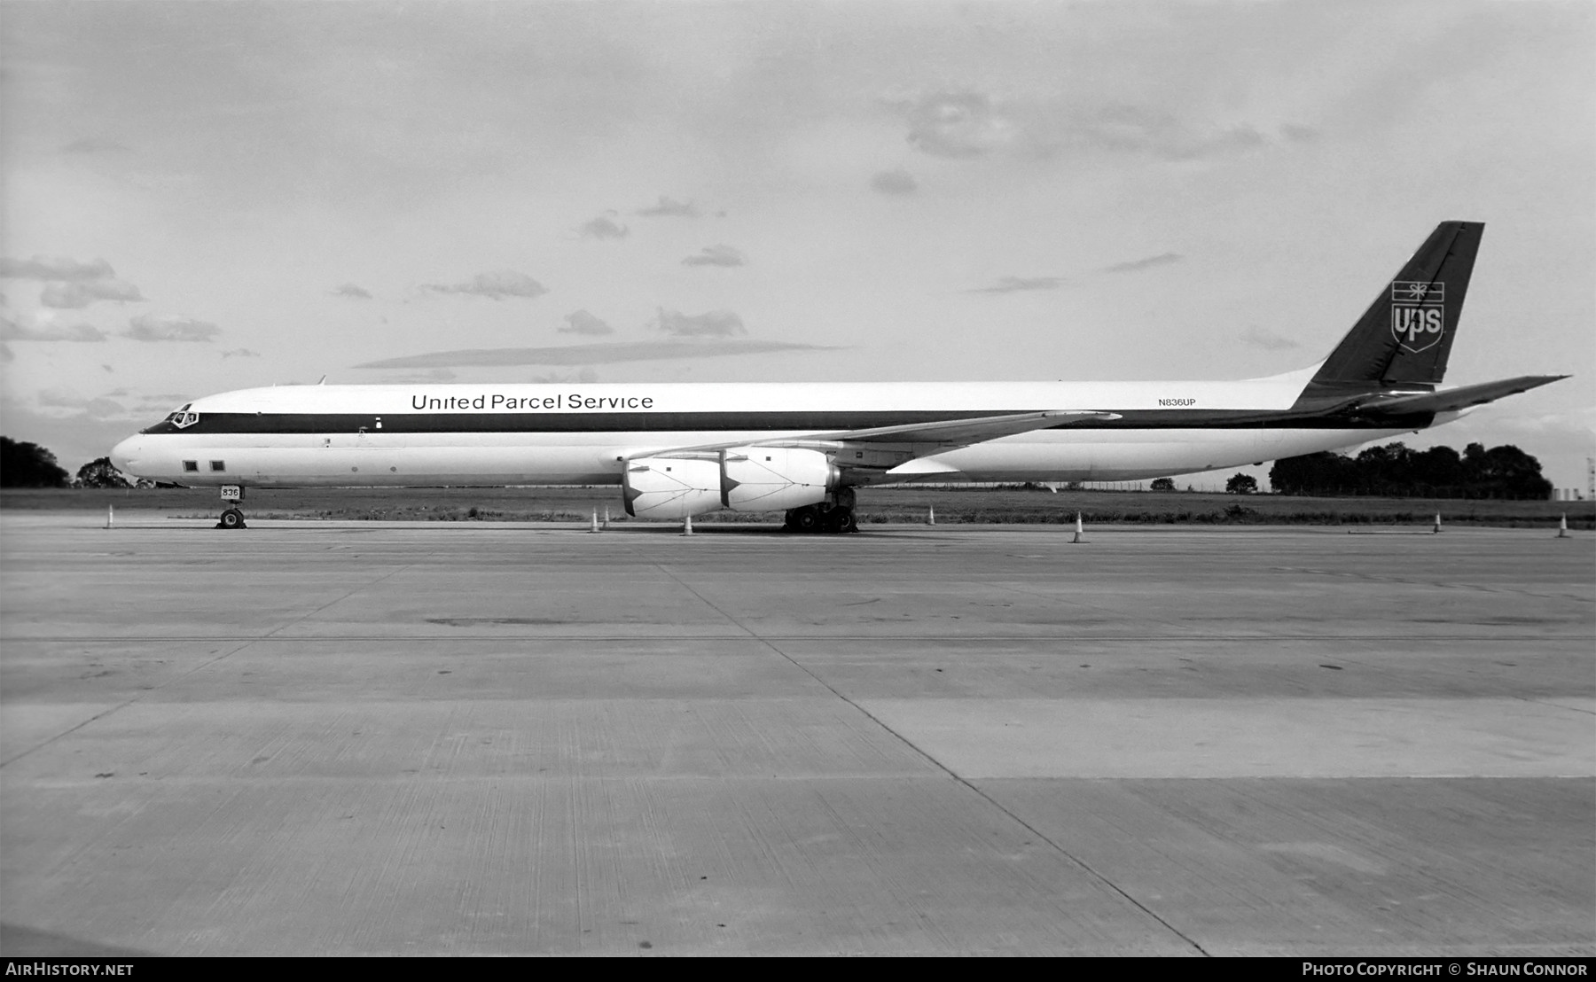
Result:
{"label": "flat strip of grass field behind the parked jet", "polygon": [[[0,491],[6,510],[139,509],[176,518],[214,517],[222,510],[212,489],[18,489]],[[326,518],[373,521],[586,521],[610,510],[632,521],[619,488],[318,488],[249,491],[252,518]],[[1192,491],[1060,491],[1017,488],[863,488],[859,520],[938,524],[1058,524],[1076,512],[1106,524],[1444,524],[1596,528],[1590,501],[1459,501],[1417,497],[1290,497],[1278,494],[1203,494]],[[779,512],[720,512],[696,521],[780,521]]]}

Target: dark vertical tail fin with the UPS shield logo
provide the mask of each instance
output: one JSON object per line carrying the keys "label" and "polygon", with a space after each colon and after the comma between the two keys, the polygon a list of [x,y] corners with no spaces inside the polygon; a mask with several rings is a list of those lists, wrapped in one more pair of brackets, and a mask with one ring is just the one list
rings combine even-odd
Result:
{"label": "dark vertical tail fin with the UPS shield logo", "polygon": [[1464,309],[1483,222],[1441,222],[1314,375],[1309,389],[1435,386]]}

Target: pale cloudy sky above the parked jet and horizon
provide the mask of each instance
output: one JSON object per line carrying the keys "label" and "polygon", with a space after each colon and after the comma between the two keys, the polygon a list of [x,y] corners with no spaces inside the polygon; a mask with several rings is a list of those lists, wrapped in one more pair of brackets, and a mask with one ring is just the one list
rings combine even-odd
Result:
{"label": "pale cloudy sky above the parked jet and horizon", "polygon": [[1585,2],[0,14],[0,413],[72,469],[322,375],[1274,375],[1446,218],[1446,381],[1575,378],[1409,443],[1596,454]]}

